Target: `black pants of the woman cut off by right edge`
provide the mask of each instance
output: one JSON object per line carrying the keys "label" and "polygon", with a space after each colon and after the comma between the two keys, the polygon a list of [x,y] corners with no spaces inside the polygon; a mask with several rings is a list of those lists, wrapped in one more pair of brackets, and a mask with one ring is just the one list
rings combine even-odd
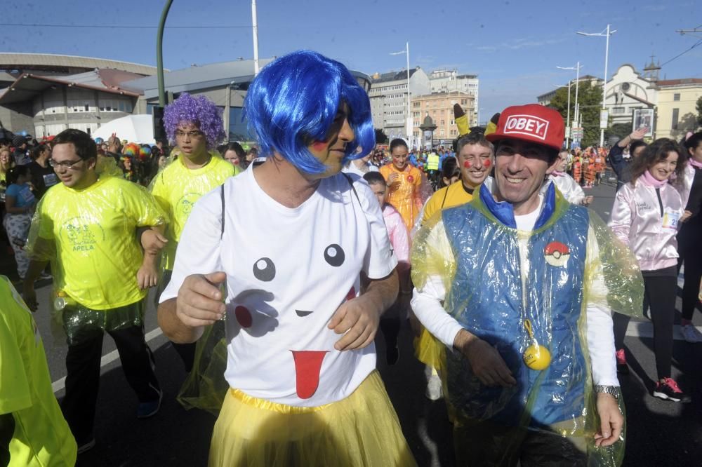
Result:
{"label": "black pants of the woman cut off by right edge", "polygon": [[677,234],[677,270],[684,263],[684,285],[682,285],[682,318],[692,319],[695,306],[699,303],[700,280],[702,280],[702,248],[699,241],[702,229],[696,225],[682,224]]}

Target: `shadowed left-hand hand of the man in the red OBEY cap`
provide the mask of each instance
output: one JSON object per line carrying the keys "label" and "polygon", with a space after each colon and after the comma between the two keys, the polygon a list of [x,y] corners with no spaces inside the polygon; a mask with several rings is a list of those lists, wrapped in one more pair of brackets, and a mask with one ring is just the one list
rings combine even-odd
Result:
{"label": "shadowed left-hand hand of the man in the red OBEY cap", "polygon": [[500,353],[486,341],[461,330],[456,334],[453,346],[463,353],[473,374],[485,386],[507,387],[517,384]]}

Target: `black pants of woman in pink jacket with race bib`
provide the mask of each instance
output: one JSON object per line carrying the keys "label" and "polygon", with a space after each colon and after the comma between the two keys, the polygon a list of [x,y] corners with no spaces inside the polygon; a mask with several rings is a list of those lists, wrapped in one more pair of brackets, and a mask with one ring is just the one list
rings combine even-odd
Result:
{"label": "black pants of woman in pink jacket with race bib", "polygon": [[[677,276],[674,274],[675,266],[660,271],[642,271],[644,311],[650,307],[651,321],[654,323],[654,353],[658,379],[670,377],[670,360],[673,359],[673,318],[675,318],[675,297],[677,297]],[[629,317],[614,313],[612,318],[614,346],[617,349],[623,348]]]}

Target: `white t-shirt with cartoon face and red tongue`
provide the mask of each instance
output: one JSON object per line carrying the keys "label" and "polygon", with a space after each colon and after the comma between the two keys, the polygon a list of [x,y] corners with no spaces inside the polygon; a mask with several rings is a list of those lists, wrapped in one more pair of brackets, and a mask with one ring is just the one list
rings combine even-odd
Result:
{"label": "white t-shirt with cartoon face and red tongue", "polygon": [[173,278],[161,302],[185,277],[227,273],[227,370],[232,388],[286,405],[317,407],[350,395],[376,367],[373,344],[336,351],[327,325],[357,297],[360,273],[395,269],[383,215],[364,180],[335,175],[298,208],[258,186],[249,168],[227,180],[220,241],[220,189],[195,204],[180,237]]}

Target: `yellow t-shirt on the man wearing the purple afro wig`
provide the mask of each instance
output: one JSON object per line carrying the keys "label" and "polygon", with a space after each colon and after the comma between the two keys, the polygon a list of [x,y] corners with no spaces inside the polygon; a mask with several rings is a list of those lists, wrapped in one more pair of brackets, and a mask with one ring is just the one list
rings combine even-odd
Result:
{"label": "yellow t-shirt on the man wearing the purple afro wig", "polygon": [[171,217],[166,229],[168,243],[163,252],[166,269],[173,269],[180,233],[183,232],[195,201],[238,173],[238,167],[213,155],[207,165],[194,170],[185,167],[179,157],[154,177],[151,193]]}

